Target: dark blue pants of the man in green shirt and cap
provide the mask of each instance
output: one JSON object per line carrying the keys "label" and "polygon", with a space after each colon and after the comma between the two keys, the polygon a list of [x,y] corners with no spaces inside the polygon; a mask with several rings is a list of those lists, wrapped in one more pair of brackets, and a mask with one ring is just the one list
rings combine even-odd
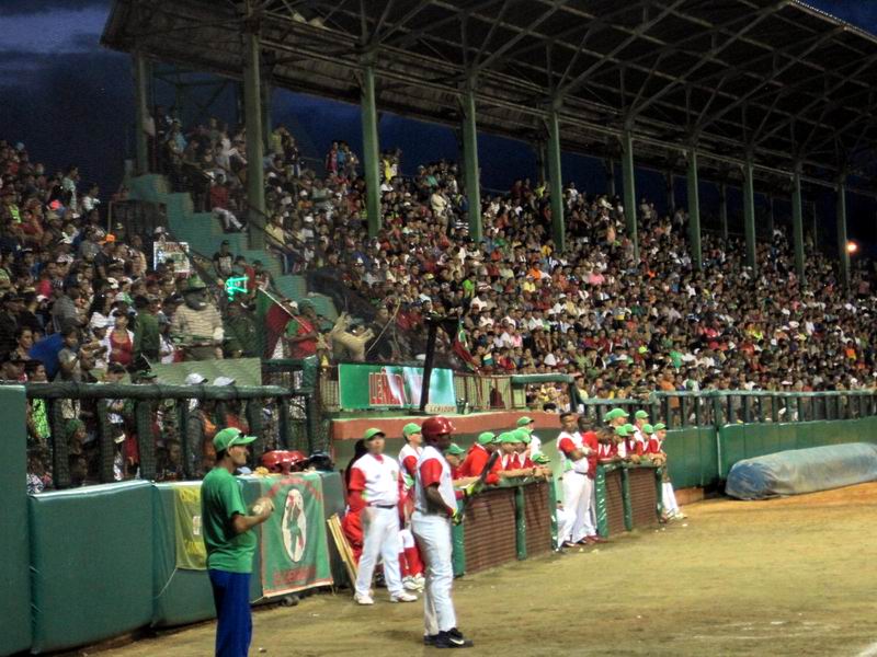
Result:
{"label": "dark blue pants of the man in green shirt and cap", "polygon": [[250,574],[207,570],[216,606],[216,657],[247,657],[253,622],[250,618]]}

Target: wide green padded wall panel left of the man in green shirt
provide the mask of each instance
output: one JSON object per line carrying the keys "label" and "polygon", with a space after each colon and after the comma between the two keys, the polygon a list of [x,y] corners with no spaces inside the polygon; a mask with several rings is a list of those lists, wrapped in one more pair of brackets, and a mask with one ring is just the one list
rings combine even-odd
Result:
{"label": "wide green padded wall panel left of the man in green shirt", "polygon": [[88,645],[149,624],[152,502],[148,482],[29,498],[33,653]]}

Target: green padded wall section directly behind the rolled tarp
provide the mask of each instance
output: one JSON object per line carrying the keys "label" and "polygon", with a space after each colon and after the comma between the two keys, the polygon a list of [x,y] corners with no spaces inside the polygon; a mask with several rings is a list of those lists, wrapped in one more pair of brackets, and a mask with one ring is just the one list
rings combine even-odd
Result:
{"label": "green padded wall section directly behind the rolled tarp", "polygon": [[[877,442],[877,417],[789,424],[727,425],[719,429],[718,435],[718,477],[727,477],[731,465],[743,459],[763,457],[788,449],[806,449],[845,442]],[[668,459],[668,463],[670,463],[670,459]],[[671,472],[674,472],[672,465]],[[673,483],[675,484],[675,473]]]}

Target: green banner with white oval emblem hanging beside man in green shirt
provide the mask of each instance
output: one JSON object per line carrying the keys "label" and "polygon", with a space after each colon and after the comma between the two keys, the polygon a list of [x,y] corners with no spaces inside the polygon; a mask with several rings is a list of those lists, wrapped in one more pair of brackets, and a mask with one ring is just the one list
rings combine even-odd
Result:
{"label": "green banner with white oval emblem hanging beside man in green shirt", "polygon": [[262,525],[262,591],[267,598],[332,584],[323,519],[322,480],[304,473],[270,476],[262,495],[274,512]]}

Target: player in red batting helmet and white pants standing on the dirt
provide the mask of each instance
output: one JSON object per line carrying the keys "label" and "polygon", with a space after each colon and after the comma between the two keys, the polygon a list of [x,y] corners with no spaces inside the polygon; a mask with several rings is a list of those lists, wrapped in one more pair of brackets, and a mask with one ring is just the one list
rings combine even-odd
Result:
{"label": "player in red batting helmet and white pants standing on the dirt", "polygon": [[414,512],[411,529],[426,562],[423,591],[423,643],[437,648],[465,648],[472,642],[457,630],[451,599],[454,583],[452,523],[463,521],[444,450],[451,445],[454,425],[446,417],[428,418],[422,426],[425,447],[418,460]]}

